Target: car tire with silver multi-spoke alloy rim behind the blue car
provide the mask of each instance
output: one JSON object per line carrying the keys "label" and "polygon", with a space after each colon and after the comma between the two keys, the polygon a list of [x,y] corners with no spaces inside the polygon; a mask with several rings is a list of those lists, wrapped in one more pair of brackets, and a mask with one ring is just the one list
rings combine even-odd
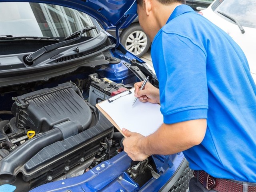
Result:
{"label": "car tire with silver multi-spoke alloy rim behind the blue car", "polygon": [[150,39],[138,23],[131,24],[122,30],[120,43],[126,50],[138,57],[143,56],[150,47]]}

